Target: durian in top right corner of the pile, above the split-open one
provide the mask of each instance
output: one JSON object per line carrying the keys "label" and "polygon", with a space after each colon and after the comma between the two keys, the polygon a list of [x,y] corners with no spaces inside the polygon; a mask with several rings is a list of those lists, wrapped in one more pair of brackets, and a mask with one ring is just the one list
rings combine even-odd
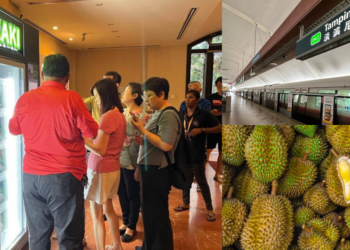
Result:
{"label": "durian in top right corner of the pile, above the split-open one", "polygon": [[327,126],[328,142],[334,150],[342,154],[350,154],[350,126],[349,125],[333,125]]}

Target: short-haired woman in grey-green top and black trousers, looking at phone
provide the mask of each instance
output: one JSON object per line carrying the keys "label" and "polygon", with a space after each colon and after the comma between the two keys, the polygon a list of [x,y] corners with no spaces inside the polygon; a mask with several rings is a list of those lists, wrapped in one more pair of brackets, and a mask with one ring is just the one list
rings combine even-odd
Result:
{"label": "short-haired woman in grey-green top and black trousers, looking at phone", "polygon": [[168,203],[171,180],[164,152],[169,154],[171,163],[174,163],[181,122],[175,110],[167,109],[159,116],[170,106],[169,83],[166,79],[148,79],[143,85],[143,94],[147,106],[154,113],[145,127],[137,117],[131,120],[140,133],[135,137],[141,143],[135,178],[141,179],[141,207],[145,229],[142,247],[135,249],[172,250],[173,232]]}

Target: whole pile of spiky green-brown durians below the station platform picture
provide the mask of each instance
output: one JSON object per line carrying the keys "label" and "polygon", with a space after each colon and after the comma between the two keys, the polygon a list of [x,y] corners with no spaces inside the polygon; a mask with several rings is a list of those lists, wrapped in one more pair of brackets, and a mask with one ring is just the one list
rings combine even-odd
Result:
{"label": "whole pile of spiky green-brown durians below the station platform picture", "polygon": [[225,250],[350,250],[350,126],[223,126]]}

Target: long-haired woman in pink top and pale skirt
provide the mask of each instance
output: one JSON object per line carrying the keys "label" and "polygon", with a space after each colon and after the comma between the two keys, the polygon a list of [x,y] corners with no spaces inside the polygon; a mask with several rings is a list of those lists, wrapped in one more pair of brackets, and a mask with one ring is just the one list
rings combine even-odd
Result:
{"label": "long-haired woman in pink top and pale skirt", "polygon": [[[96,139],[85,139],[85,146],[91,151],[85,199],[90,201],[97,250],[122,250],[119,222],[112,199],[117,196],[119,188],[119,157],[126,137],[126,120],[118,89],[111,79],[99,80],[91,89],[102,116]],[[103,213],[107,216],[113,235],[113,244],[106,247]]]}

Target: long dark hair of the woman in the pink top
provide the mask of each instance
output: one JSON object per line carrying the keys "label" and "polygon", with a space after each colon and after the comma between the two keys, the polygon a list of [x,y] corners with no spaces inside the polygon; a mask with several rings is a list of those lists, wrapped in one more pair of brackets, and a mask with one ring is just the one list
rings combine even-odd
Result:
{"label": "long dark hair of the woman in the pink top", "polygon": [[105,78],[97,81],[90,90],[92,95],[94,95],[94,89],[101,98],[101,114],[114,108],[118,108],[121,113],[124,112],[119,99],[118,88],[112,79]]}

